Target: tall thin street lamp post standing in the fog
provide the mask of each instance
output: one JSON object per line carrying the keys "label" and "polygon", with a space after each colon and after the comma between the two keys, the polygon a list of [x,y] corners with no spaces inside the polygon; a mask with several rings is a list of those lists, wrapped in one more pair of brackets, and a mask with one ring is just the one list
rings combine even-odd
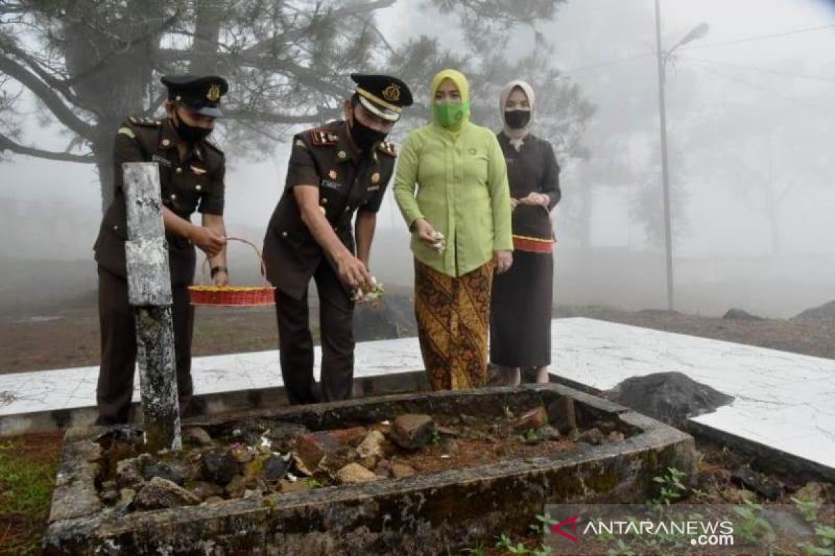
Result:
{"label": "tall thin street lamp post standing in the fog", "polygon": [[685,38],[676,43],[667,53],[661,49],[661,8],[660,0],[655,0],[655,43],[657,44],[656,54],[658,59],[658,118],[661,128],[661,184],[664,189],[664,247],[666,259],[667,278],[667,310],[673,310],[673,247],[672,227],[670,218],[670,174],[667,169],[667,114],[664,97],[665,86],[665,65],[667,59],[676,48],[682,44],[690,43],[698,38],[703,38],[708,31],[707,23],[701,23],[698,27],[687,33]]}

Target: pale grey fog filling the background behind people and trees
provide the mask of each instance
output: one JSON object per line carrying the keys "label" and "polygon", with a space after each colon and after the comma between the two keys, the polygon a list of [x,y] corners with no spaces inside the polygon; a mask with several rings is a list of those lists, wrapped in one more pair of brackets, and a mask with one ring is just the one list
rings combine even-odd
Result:
{"label": "pale grey fog filling the background behind people and trees", "polygon": [[[387,42],[396,47],[423,34],[466,55],[452,19],[418,4],[399,0],[376,13]],[[791,317],[830,301],[835,3],[660,5],[665,49],[700,23],[710,26],[706,37],[676,48],[666,63],[676,310],[721,314],[741,307]],[[579,86],[580,96],[595,107],[580,138],[584,156],[559,158],[563,200],[554,211],[555,303],[665,308],[654,2],[569,0],[536,31],[554,46],[553,54],[541,55],[553,56],[560,79]],[[528,56],[536,48],[534,29],[519,26],[507,56]],[[428,116],[431,77],[409,83],[422,104],[412,115]],[[234,95],[236,84],[230,85]],[[3,90],[17,93],[18,83],[9,79]],[[489,103],[496,114],[476,123],[495,128],[498,98]],[[63,148],[66,133],[26,93],[21,107],[21,143]],[[542,110],[537,117],[547,118]],[[406,131],[404,123],[395,140]],[[235,136],[220,138],[230,153],[227,229],[261,243],[281,195],[290,135],[248,156],[224,144]],[[94,291],[91,248],[101,215],[94,164],[3,153],[0,201],[0,301],[42,295],[43,288],[31,287],[42,283],[51,296],[62,288],[68,297]],[[373,272],[383,283],[411,284],[407,232],[390,191],[377,222]],[[255,279],[251,258],[245,249],[233,249],[234,278]],[[235,265],[245,271],[235,273]],[[50,276],[34,276],[38,272]]]}

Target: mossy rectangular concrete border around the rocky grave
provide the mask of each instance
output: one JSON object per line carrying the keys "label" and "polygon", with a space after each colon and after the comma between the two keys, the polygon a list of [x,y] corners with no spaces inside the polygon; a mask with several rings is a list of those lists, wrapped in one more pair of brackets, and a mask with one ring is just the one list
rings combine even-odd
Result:
{"label": "mossy rectangular concrete border around the rocky grave", "polygon": [[477,538],[527,529],[545,503],[642,503],[652,478],[676,467],[696,474],[693,438],[628,408],[559,384],[409,393],[254,411],[205,422],[253,419],[311,430],[393,418],[399,413],[498,417],[573,400],[579,425],[608,418],[630,433],[620,443],[579,444],[568,453],[205,506],[129,513],[103,511],[96,495],[102,428],[67,433],[53,495],[47,554],[437,554]]}

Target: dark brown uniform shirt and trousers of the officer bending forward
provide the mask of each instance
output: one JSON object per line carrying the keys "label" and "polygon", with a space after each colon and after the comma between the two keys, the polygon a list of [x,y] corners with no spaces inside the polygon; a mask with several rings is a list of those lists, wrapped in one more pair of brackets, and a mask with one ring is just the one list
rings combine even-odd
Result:
{"label": "dark brown uniform shirt and trousers of the officer bending forward", "polygon": [[[394,169],[391,143],[371,153],[353,148],[347,124],[329,123],[299,133],[284,194],[264,238],[267,278],[276,286],[281,376],[291,403],[316,403],[351,397],[354,370],[351,292],[338,278],[336,264],[323,253],[301,221],[293,188],[319,188],[322,213],[342,243],[355,253],[352,219],[359,210],[376,213]],[[313,377],[313,339],[307,292],[311,278],[319,294],[321,388]]]}

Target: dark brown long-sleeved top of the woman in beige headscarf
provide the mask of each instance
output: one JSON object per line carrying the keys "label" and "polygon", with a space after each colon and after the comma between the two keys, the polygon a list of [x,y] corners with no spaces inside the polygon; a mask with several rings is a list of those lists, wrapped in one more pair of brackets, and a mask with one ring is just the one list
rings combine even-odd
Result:
{"label": "dark brown long-sleeved top of the woman in beige headscarf", "polygon": [[510,144],[510,138],[498,133],[498,144],[508,165],[510,196],[514,199],[527,197],[530,193],[548,195],[548,208],[519,205],[514,209],[514,236],[553,239],[550,211],[559,203],[559,166],[551,143],[533,134],[524,138],[519,151]]}

